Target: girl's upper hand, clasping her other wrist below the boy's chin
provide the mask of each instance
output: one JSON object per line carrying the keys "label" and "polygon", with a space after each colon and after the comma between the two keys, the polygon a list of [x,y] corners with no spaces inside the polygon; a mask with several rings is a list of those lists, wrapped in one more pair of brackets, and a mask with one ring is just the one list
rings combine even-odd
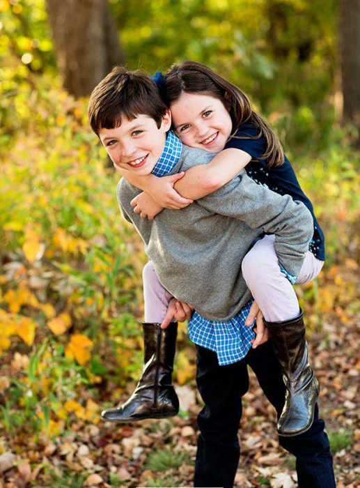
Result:
{"label": "girl's upper hand, clasping her other wrist below the boy's chin", "polygon": [[185,208],[192,204],[194,200],[189,198],[183,198],[174,190],[176,181],[180,180],[185,175],[185,171],[181,171],[178,174],[172,174],[171,176],[162,176],[162,178],[155,178],[151,187],[146,191],[151,197],[161,205],[162,208],[171,208],[171,210],[179,210],[179,208]]}

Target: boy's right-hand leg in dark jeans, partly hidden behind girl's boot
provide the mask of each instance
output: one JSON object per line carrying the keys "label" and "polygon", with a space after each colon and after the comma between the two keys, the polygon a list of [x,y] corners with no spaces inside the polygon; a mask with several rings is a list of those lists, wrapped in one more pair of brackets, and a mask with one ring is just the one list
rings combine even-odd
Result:
{"label": "boy's right-hand leg in dark jeans, partly hidden behind girl's boot", "polygon": [[[280,415],[285,399],[285,386],[271,340],[257,349],[251,349],[247,362],[256,374],[267,399]],[[324,421],[319,418],[317,405],[310,429],[295,437],[279,436],[279,443],[296,457],[299,488],[336,487],[329,439],[324,432]]]}

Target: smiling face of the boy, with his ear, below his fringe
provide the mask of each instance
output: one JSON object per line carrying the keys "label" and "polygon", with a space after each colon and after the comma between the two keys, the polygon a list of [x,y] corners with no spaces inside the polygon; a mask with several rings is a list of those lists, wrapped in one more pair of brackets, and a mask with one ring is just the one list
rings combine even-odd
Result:
{"label": "smiling face of the boy, with his ear, below his fringe", "polygon": [[141,114],[131,121],[123,119],[120,127],[101,129],[99,136],[116,169],[146,176],[162,155],[170,126],[170,112],[162,119],[160,128],[154,119]]}

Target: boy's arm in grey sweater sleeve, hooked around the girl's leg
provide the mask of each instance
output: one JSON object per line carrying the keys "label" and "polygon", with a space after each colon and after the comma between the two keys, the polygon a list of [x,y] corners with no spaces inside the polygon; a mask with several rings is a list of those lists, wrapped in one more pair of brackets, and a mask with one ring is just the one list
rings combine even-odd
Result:
{"label": "boy's arm in grey sweater sleeve, hooked around the girl's leg", "polygon": [[304,204],[258,185],[245,172],[198,204],[274,234],[280,266],[292,276],[299,275],[313,236],[313,218]]}

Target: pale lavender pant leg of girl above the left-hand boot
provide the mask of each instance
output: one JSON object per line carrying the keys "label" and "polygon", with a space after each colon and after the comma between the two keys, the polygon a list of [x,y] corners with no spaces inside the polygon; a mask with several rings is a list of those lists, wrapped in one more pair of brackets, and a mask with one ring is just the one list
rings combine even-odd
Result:
{"label": "pale lavender pant leg of girl above the left-hand boot", "polygon": [[152,262],[143,267],[143,302],[145,322],[162,323],[173,298],[161,284]]}

